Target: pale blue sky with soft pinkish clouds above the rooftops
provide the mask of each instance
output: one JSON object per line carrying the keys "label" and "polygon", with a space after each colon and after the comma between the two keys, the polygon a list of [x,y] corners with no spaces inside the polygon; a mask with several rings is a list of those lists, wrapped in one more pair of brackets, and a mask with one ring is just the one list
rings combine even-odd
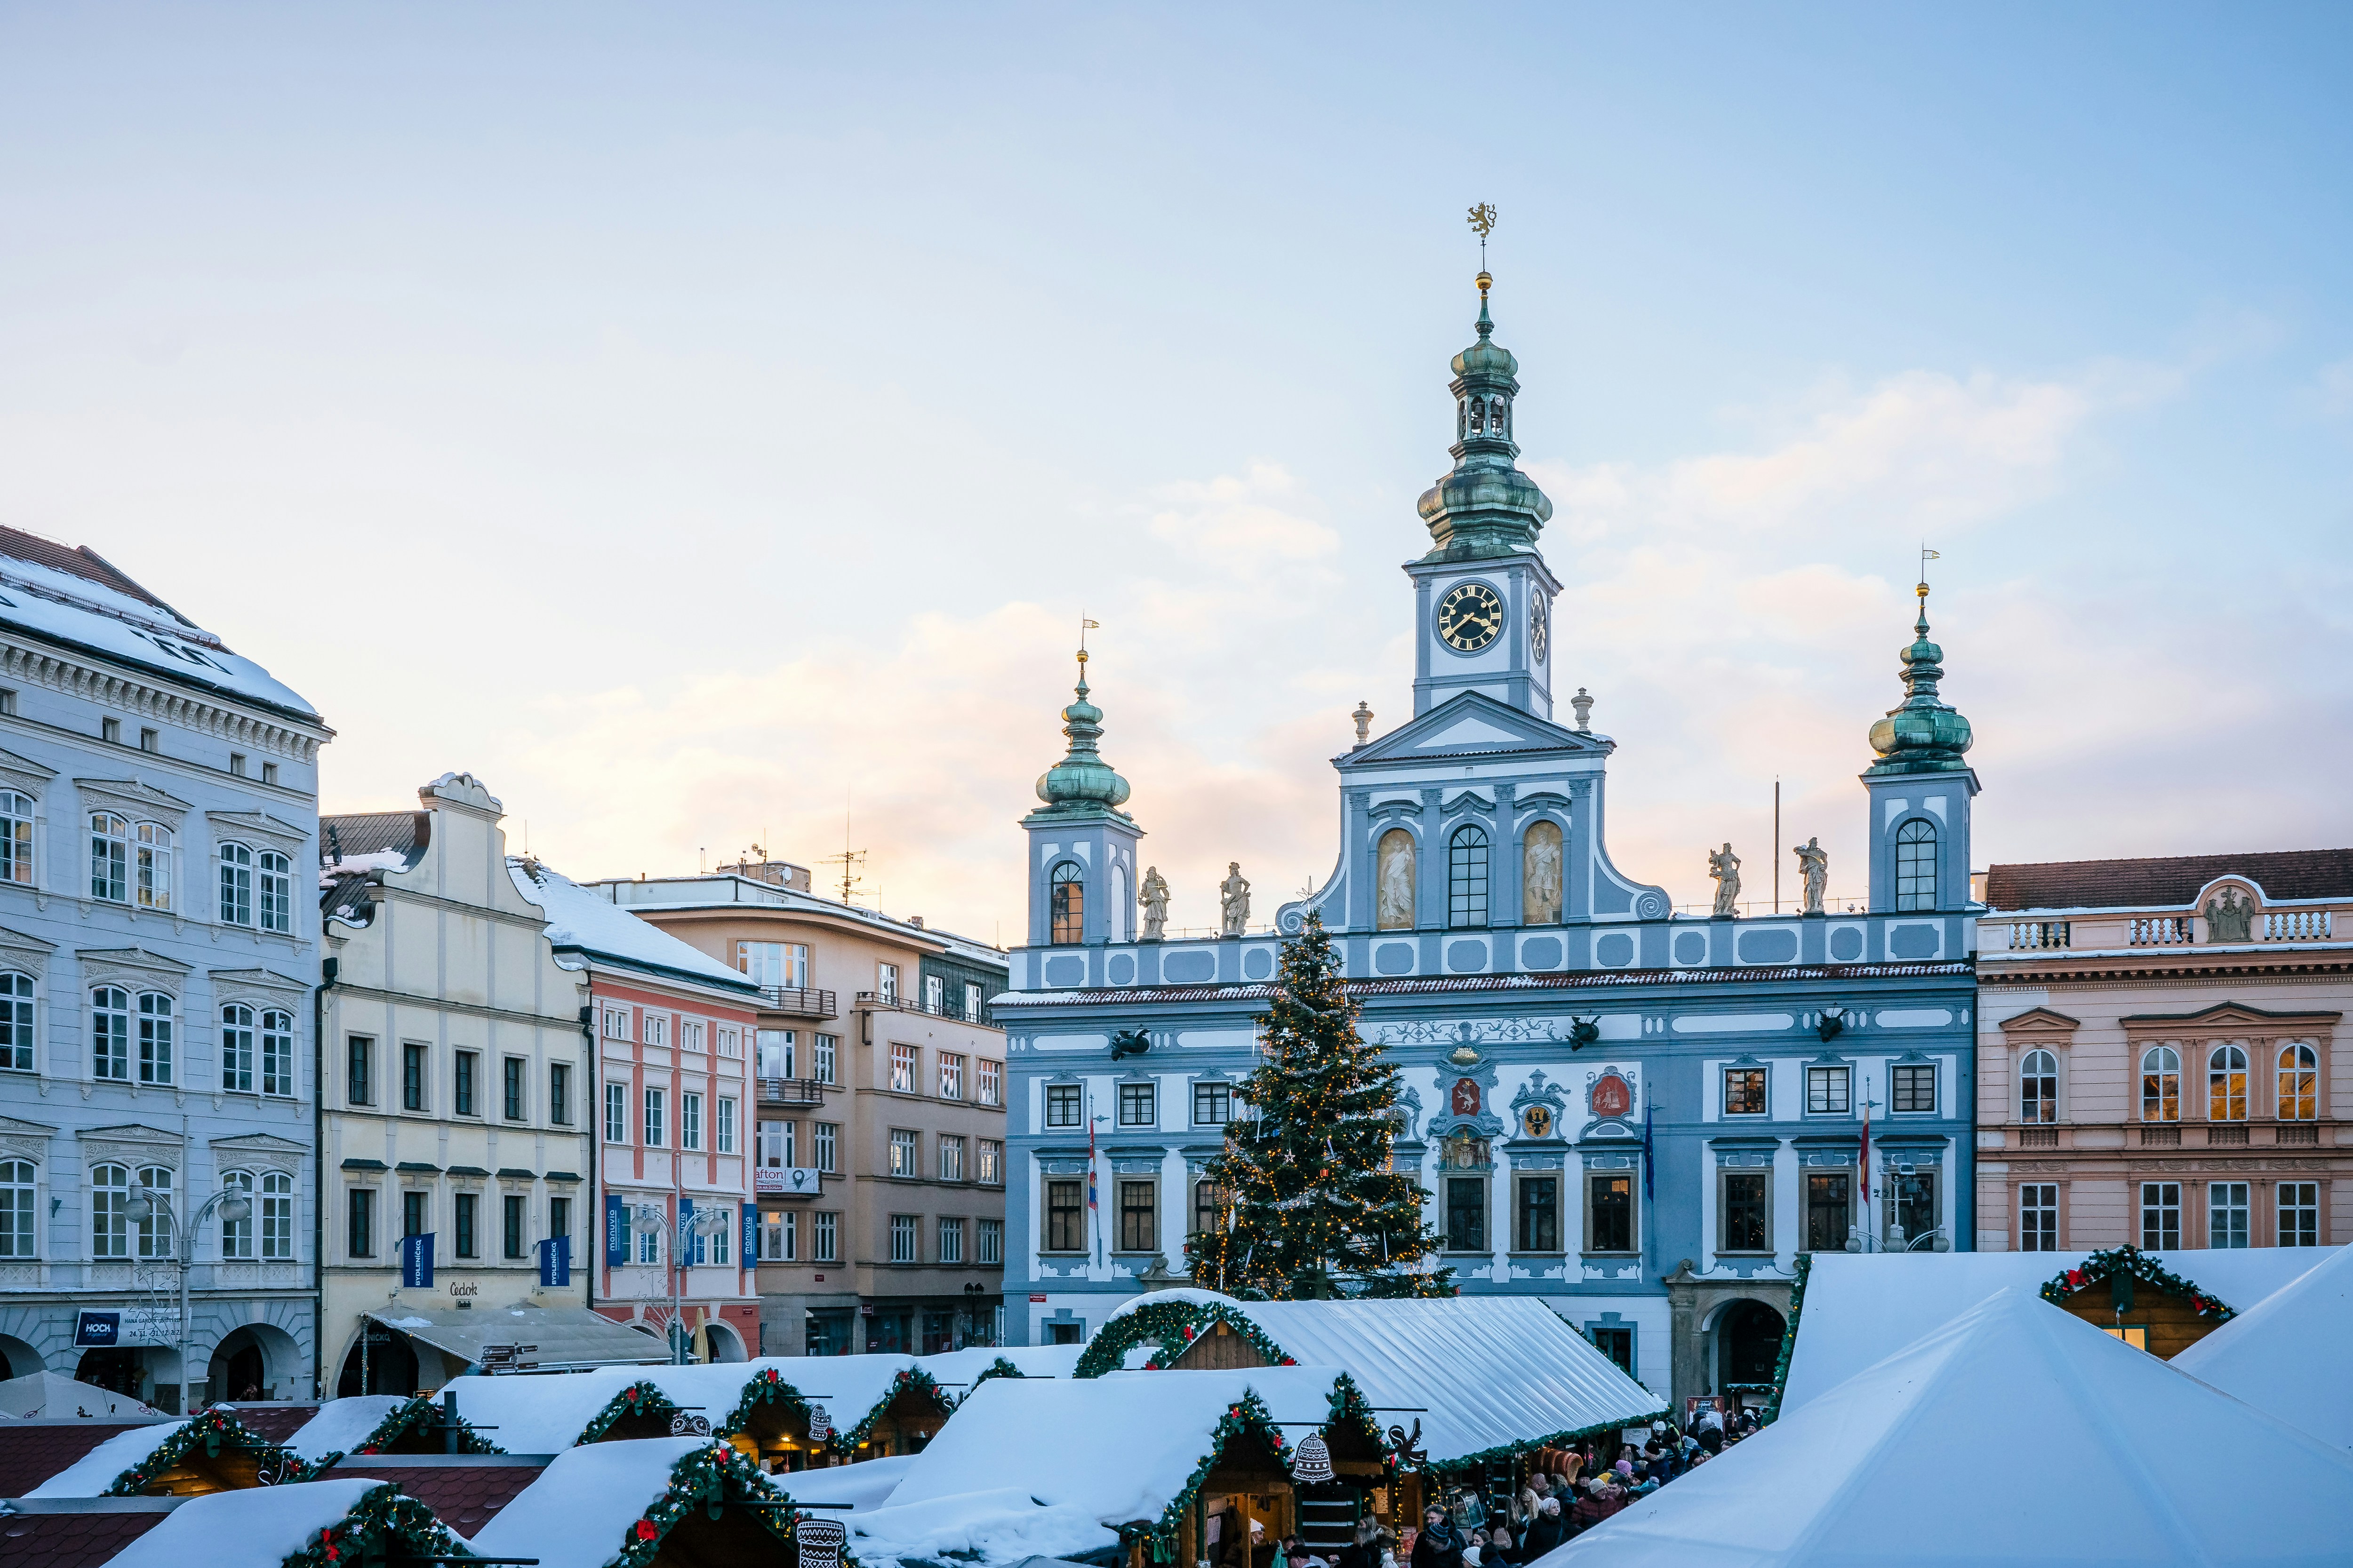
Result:
{"label": "pale blue sky with soft pinkish clouds above the rooftops", "polygon": [[[1174,926],[1409,715],[1494,202],[1607,837],[2353,844],[2353,9],[0,5],[0,522],[572,877],[1024,924],[1080,618]],[[819,877],[831,867],[816,865]]]}

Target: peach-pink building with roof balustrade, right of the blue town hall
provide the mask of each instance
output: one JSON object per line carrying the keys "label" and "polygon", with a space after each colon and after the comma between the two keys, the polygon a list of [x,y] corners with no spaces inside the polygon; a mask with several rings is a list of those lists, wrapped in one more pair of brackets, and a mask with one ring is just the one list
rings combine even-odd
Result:
{"label": "peach-pink building with roof balustrade, right of the blue town hall", "polygon": [[1984,898],[1979,1251],[2353,1241],[2353,851],[1995,865]]}

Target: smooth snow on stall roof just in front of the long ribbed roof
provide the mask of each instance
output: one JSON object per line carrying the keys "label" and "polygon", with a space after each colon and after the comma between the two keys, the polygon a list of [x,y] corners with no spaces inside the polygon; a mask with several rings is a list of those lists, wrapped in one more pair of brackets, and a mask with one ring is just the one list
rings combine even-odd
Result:
{"label": "smooth snow on stall roof just in front of the long ribbed roof", "polygon": [[[892,1493],[892,1509],[1012,1490],[1101,1526],[1160,1521],[1217,1443],[1226,1410],[1257,1392],[1273,1420],[1332,1418],[1329,1366],[1231,1373],[991,1378],[972,1389]],[[1292,1429],[1304,1436],[1304,1429]],[[816,1493],[809,1493],[816,1500]],[[826,1500],[821,1500],[826,1502]],[[852,1521],[854,1526],[861,1521]]]}

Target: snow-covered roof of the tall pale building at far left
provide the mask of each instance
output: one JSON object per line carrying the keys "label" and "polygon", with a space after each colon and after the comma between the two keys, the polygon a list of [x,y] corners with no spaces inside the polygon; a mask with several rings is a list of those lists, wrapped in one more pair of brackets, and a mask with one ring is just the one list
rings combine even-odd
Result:
{"label": "snow-covered roof of the tall pale building at far left", "polygon": [[89,576],[24,559],[12,536],[21,538],[14,529],[0,536],[0,623],[318,722],[308,698],[212,632]]}

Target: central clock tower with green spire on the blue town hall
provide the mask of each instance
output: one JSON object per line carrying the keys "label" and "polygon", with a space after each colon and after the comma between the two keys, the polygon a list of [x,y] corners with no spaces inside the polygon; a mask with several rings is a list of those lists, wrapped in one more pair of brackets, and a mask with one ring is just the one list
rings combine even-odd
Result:
{"label": "central clock tower with green spire on the blue town hall", "polygon": [[1478,341],[1454,355],[1454,468],[1421,494],[1431,552],[1414,578],[1414,715],[1461,691],[1485,691],[1553,717],[1553,597],[1560,581],[1537,555],[1553,503],[1513,465],[1520,362],[1492,341],[1478,275]]}

